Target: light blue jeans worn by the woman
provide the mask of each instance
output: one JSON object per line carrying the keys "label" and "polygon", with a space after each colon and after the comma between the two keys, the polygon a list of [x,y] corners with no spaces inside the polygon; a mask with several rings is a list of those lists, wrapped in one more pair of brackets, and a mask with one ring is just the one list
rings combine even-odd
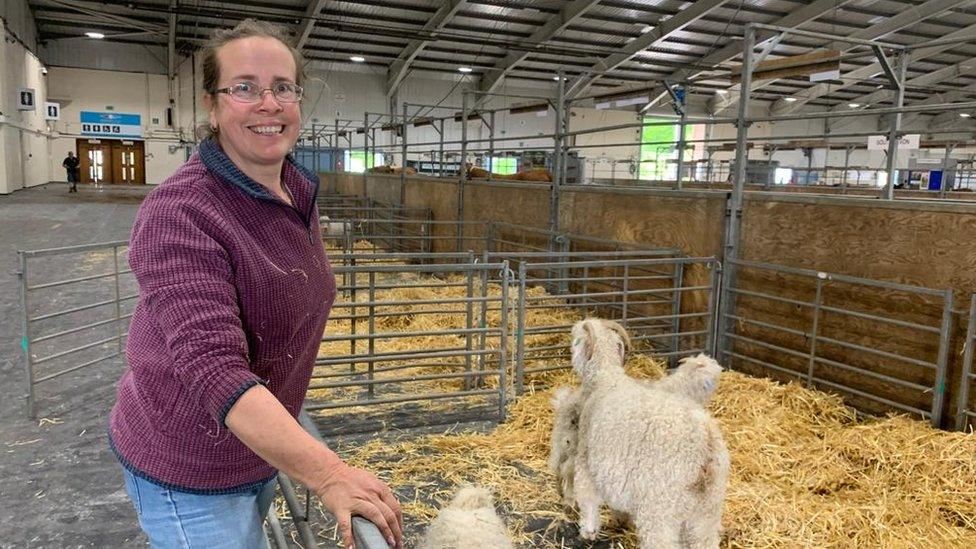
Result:
{"label": "light blue jeans worn by the woman", "polygon": [[267,549],[262,524],[277,479],[240,494],[198,495],[122,471],[139,526],[153,549]]}

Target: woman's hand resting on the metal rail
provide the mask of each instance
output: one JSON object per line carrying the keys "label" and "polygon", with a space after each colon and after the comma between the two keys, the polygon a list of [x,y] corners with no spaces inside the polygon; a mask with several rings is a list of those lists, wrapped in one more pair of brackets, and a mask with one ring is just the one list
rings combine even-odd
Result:
{"label": "woman's hand resting on the metal rail", "polygon": [[332,513],[342,533],[343,547],[355,547],[352,517],[361,516],[379,528],[390,547],[403,547],[403,513],[390,487],[369,471],[340,462],[311,487]]}

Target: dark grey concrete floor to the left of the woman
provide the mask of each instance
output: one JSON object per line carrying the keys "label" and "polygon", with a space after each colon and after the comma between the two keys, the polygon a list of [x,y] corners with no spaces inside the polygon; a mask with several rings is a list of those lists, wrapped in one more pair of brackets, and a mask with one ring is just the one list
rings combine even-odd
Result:
{"label": "dark grey concrete floor to the left of the woman", "polygon": [[41,385],[38,419],[26,416],[16,252],[126,240],[149,190],[50,184],[0,196],[0,548],[146,545],[107,446],[121,360]]}

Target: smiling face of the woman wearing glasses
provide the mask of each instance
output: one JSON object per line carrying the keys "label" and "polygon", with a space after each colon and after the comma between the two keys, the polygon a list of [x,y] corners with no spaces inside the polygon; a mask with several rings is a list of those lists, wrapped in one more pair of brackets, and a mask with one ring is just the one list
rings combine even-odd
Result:
{"label": "smiling face of the woman wearing glasses", "polygon": [[[217,88],[251,82],[259,89],[295,83],[298,67],[288,48],[267,37],[234,40],[217,51]],[[208,96],[210,125],[218,128],[224,152],[238,167],[280,165],[298,140],[301,103],[280,103],[270,91],[257,103],[242,103],[226,93]]]}

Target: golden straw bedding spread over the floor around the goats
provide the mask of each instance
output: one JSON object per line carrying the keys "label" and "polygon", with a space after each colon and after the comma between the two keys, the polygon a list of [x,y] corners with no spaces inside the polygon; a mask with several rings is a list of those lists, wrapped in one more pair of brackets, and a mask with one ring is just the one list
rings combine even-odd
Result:
{"label": "golden straw bedding spread over the floor around the goats", "polygon": [[[430,297],[425,291],[392,291],[398,298]],[[490,322],[497,325],[494,314]],[[464,313],[437,321],[415,318],[388,328],[460,326]],[[566,310],[559,320],[575,319]],[[450,324],[457,321],[461,324]],[[343,329],[333,324],[328,332]],[[394,341],[414,348],[447,346],[439,339],[444,337],[457,336]],[[538,337],[562,341],[561,336]],[[323,346],[322,351],[348,349]],[[663,372],[660,363],[639,354],[628,360],[628,371],[646,378]],[[548,387],[575,383],[566,371],[537,377]],[[430,383],[456,388],[459,382]],[[455,487],[474,482],[493,490],[521,547],[637,547],[632,527],[613,523],[609,515],[596,543],[577,538],[575,513],[560,506],[546,465],[551,392],[530,387],[511,404],[508,420],[487,433],[373,439],[348,447],[335,443],[350,464],[376,472],[397,492],[409,526],[408,546]],[[310,392],[312,398],[337,396],[342,396],[337,390]],[[711,411],[732,458],[724,547],[976,547],[974,435],[939,431],[906,416],[859,418],[837,396],[737,372],[723,374]],[[322,533],[332,535],[324,526]]]}

